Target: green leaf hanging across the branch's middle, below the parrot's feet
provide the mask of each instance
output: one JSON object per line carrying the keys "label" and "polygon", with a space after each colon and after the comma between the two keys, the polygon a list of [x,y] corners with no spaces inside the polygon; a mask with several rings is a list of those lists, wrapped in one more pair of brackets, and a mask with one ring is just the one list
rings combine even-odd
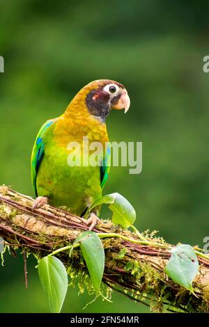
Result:
{"label": "green leaf hanging across the branch's middle, below the parrot's feet", "polygon": [[93,287],[99,292],[104,273],[104,248],[95,232],[82,232],[75,240],[80,244]]}

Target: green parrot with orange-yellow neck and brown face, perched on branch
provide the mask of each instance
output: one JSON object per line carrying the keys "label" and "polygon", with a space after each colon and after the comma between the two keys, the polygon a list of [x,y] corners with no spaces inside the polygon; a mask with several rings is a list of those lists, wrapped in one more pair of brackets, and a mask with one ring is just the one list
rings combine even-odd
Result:
{"label": "green parrot with orange-yellow neck and brown face, perched on branch", "polygon": [[[31,178],[36,195],[33,211],[52,205],[67,207],[71,214],[84,216],[102,196],[109,175],[107,115],[111,109],[124,109],[126,113],[129,108],[130,97],[125,87],[110,79],[100,79],[79,90],[62,115],[42,125],[31,154]],[[88,137],[89,144],[102,144],[102,150],[98,150],[99,165],[89,164],[88,159],[87,164],[82,161],[87,156],[82,151],[84,137]],[[79,145],[81,164],[69,164],[72,154],[69,144]],[[86,219],[89,230],[98,224],[99,215],[100,206],[89,212]]]}

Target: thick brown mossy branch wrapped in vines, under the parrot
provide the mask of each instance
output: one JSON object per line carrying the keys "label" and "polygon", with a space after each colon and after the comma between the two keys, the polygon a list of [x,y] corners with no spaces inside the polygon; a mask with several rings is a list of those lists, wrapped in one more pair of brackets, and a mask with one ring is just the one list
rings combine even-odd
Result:
{"label": "thick brown mossy branch wrapped in vines, under the parrot", "polygon": [[[25,254],[40,258],[56,251],[71,282],[78,278],[80,287],[91,289],[79,248],[75,248],[71,256],[69,250],[58,251],[73,244],[80,232],[88,230],[86,220],[48,205],[31,212],[33,202],[28,196],[0,186],[0,237],[13,252],[20,248],[24,258]],[[158,312],[209,312],[209,259],[206,255],[201,252],[198,255],[200,268],[192,294],[164,273],[171,256],[170,244],[151,235],[141,241],[137,231],[122,230],[111,221],[101,221],[94,232],[100,233],[105,250],[103,285],[108,289]]]}

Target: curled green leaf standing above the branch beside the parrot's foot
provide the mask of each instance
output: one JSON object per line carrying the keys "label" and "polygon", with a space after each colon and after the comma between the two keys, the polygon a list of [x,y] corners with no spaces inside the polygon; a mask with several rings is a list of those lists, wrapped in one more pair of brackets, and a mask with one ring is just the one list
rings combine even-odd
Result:
{"label": "curled green leaf standing above the branch beside the parrot's foot", "polygon": [[88,209],[89,214],[94,207],[98,205],[108,204],[109,209],[113,212],[111,220],[115,225],[121,225],[123,228],[129,228],[136,220],[136,212],[130,202],[119,193],[112,193],[102,196],[96,200]]}

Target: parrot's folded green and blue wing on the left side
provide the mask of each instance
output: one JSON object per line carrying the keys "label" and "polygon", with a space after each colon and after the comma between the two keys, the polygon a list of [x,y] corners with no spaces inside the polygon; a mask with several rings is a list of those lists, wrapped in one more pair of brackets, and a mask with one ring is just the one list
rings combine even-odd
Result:
{"label": "parrot's folded green and blue wing on the left side", "polygon": [[40,167],[40,163],[42,161],[42,157],[44,154],[44,147],[45,147],[45,131],[55,122],[56,120],[47,120],[45,125],[42,125],[38,135],[36,137],[36,141],[33,146],[33,152],[31,155],[31,178],[33,183],[33,190],[38,196],[37,188],[36,188],[36,178],[38,175],[38,168]]}

